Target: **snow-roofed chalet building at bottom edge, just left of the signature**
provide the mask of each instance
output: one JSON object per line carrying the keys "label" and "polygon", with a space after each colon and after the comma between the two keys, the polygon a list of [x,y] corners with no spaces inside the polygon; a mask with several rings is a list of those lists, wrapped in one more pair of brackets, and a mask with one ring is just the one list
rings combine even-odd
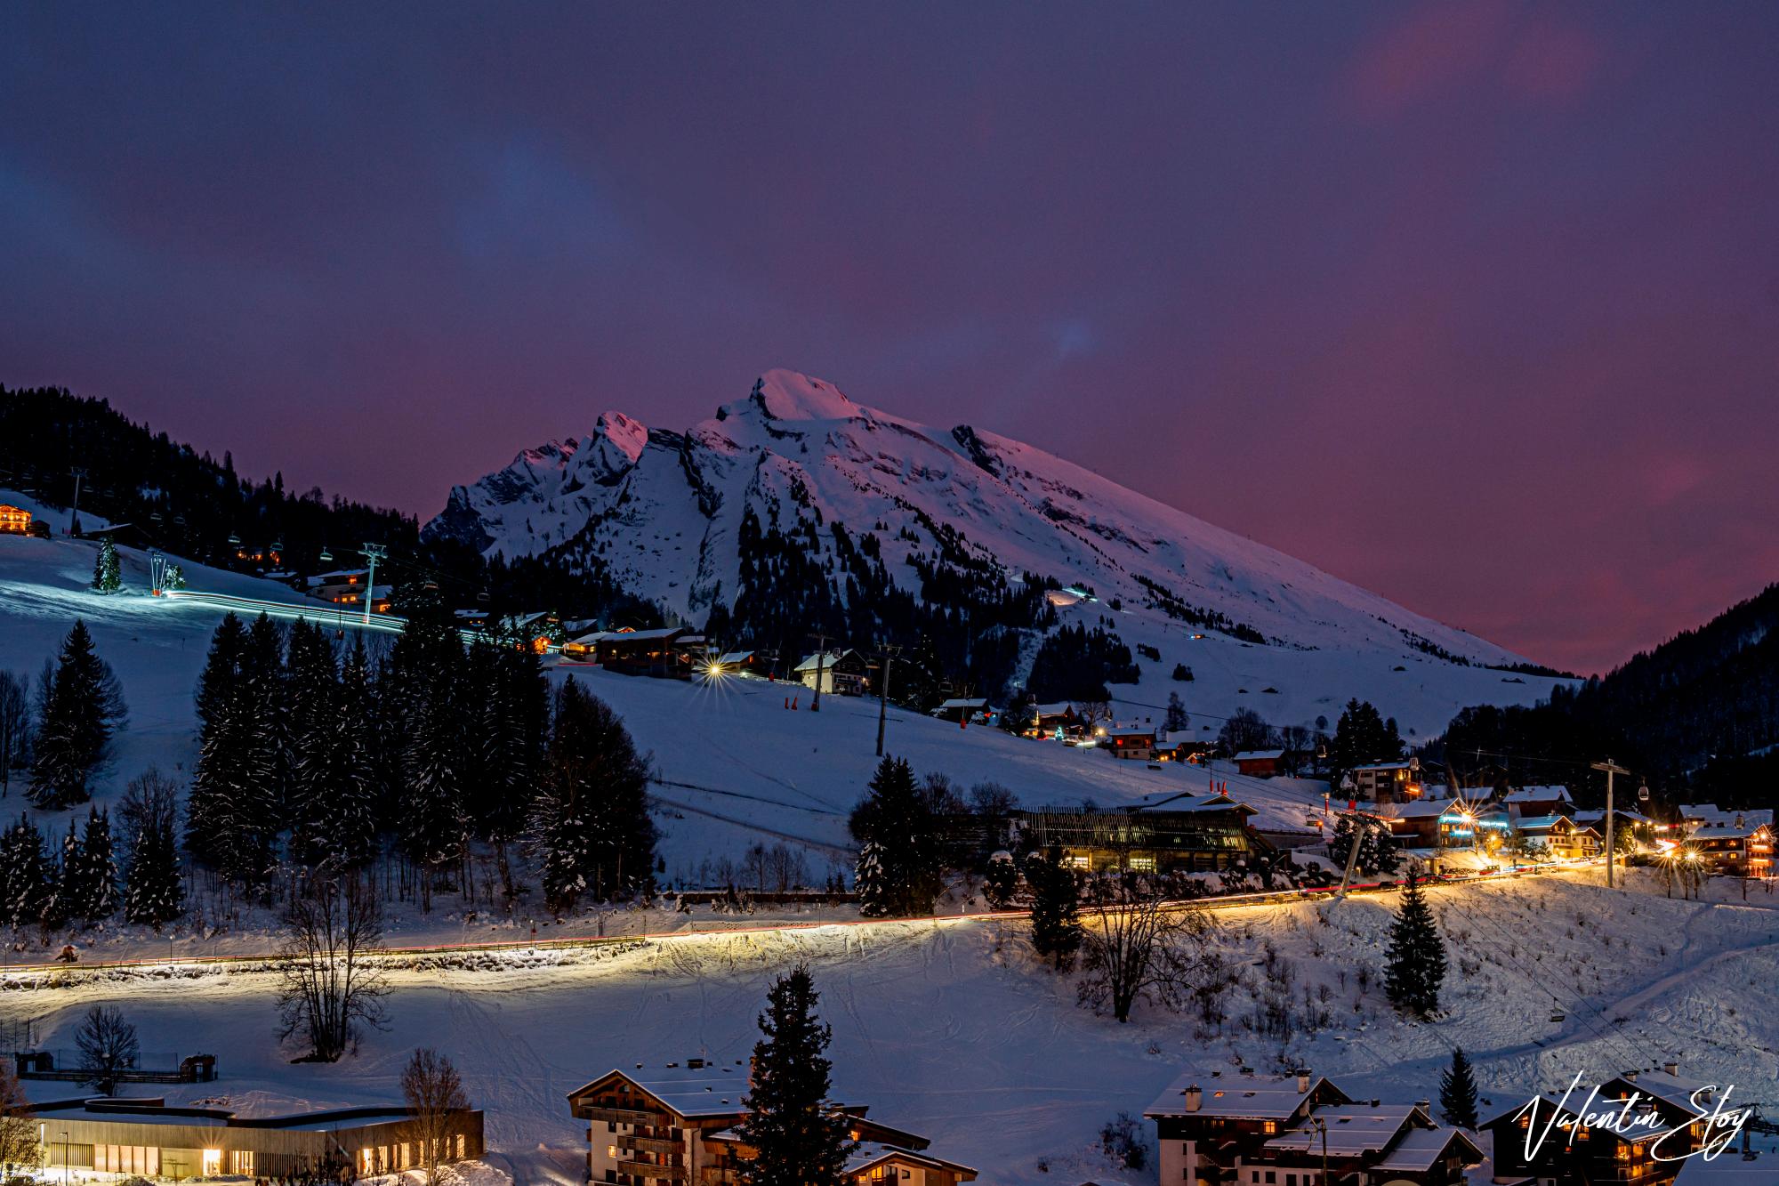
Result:
{"label": "snow-roofed chalet building at bottom edge, just left of the signature", "polygon": [[1155,1120],[1163,1186],[1461,1186],[1466,1166],[1484,1159],[1425,1102],[1356,1101],[1309,1070],[1188,1070],[1144,1115]]}

